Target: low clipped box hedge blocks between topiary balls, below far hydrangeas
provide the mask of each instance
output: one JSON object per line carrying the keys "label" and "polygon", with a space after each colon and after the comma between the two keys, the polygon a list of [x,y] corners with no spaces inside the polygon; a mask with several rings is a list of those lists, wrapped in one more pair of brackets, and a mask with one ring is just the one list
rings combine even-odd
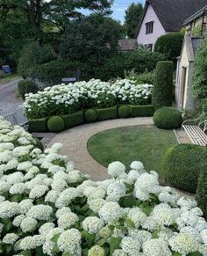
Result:
{"label": "low clipped box hedge blocks between topiary balls, below far hydrangeas", "polygon": [[[141,105],[141,106],[132,106],[132,105],[119,105],[119,106],[130,106],[130,116],[129,117],[143,117],[143,116],[153,116],[154,106],[153,105]],[[95,109],[98,115],[97,121],[105,121],[111,119],[118,119],[118,107],[112,106],[107,108],[97,108]],[[83,114],[86,110],[78,111],[76,113],[63,114],[60,115],[65,123],[66,128],[73,128],[84,123],[89,123],[84,121]],[[69,121],[68,118],[71,117],[72,121]],[[31,132],[43,132],[41,129],[39,130],[39,120],[44,123],[44,132],[50,132],[47,128],[47,121],[50,117],[40,118],[40,119],[31,119],[28,121],[29,130]]]}

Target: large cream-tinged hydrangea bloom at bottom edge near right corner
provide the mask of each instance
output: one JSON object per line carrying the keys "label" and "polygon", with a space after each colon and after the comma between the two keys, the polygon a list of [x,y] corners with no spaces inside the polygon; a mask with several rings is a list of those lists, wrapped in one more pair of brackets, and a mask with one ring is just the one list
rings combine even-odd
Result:
{"label": "large cream-tinged hydrangea bloom at bottom edge near right corner", "polygon": [[196,252],[199,248],[194,236],[189,233],[180,233],[169,239],[169,245],[172,250],[182,254]]}

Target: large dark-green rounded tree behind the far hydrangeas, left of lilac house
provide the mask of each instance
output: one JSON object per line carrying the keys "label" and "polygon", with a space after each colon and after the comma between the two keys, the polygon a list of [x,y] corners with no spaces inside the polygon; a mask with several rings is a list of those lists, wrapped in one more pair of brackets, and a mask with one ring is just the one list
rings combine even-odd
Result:
{"label": "large dark-green rounded tree behind the far hydrangeas, left of lilac house", "polygon": [[70,60],[100,64],[117,50],[120,35],[121,26],[117,21],[92,14],[68,25],[61,55]]}

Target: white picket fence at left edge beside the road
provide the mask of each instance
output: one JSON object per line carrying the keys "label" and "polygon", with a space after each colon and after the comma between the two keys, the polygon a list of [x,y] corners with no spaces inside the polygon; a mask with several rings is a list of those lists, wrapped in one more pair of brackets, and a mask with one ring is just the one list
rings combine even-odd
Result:
{"label": "white picket fence at left edge beside the road", "polygon": [[5,110],[0,109],[0,114],[3,115],[5,120],[11,121],[12,125],[24,126],[27,123],[23,105],[13,106]]}

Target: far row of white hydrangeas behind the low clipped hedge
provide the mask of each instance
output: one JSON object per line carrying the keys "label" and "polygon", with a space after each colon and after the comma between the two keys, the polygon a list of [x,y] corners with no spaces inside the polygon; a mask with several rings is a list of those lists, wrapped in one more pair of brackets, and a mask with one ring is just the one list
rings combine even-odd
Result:
{"label": "far row of white hydrangeas behind the low clipped hedge", "polygon": [[54,85],[35,94],[25,94],[25,113],[28,118],[33,119],[75,113],[90,107],[146,105],[151,103],[152,88],[153,85],[135,84],[127,79],[114,83],[92,79],[89,82]]}

